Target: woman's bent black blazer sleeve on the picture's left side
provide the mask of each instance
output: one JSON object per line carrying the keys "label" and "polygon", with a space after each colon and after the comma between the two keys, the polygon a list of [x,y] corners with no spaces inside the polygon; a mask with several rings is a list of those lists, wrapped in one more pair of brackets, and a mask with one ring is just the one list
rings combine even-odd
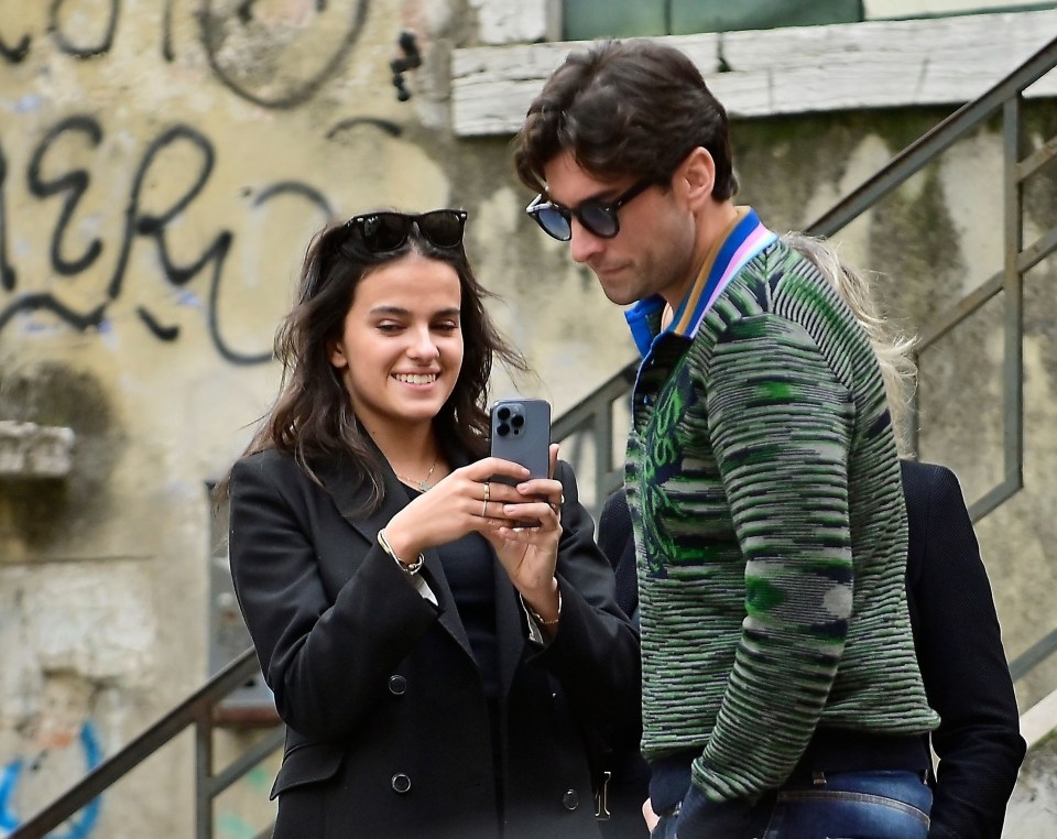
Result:
{"label": "woman's bent black blazer sleeve on the picture's left side", "polygon": [[333,741],[363,723],[437,611],[377,544],[330,600],[301,498],[317,490],[298,470],[274,456],[236,464],[231,577],[283,721]]}

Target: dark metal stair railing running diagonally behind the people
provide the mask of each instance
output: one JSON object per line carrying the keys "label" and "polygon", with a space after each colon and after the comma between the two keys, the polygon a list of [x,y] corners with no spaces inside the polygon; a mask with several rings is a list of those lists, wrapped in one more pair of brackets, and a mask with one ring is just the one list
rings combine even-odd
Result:
{"label": "dark metal stair railing running diagonally behind the people", "polygon": [[[926,348],[949,333],[987,301],[1005,293],[1005,358],[1003,367],[1004,480],[974,502],[974,521],[991,512],[1023,486],[1023,275],[1042,259],[1057,250],[1057,227],[1043,233],[1029,247],[1023,247],[1023,184],[1043,165],[1057,157],[1057,138],[1038,150],[1021,156],[1024,134],[1021,126],[1022,91],[1057,66],[1057,39],[1051,41],[1010,76],[979,99],[963,106],[931,131],[896,155],[882,171],[863,183],[832,209],[807,228],[815,236],[831,236],[858,218],[884,196],[918,172],[959,138],[990,119],[999,110],[1004,137],[1004,219],[1003,270],[942,313],[923,334],[919,347]],[[579,404],[558,417],[553,436],[574,438],[566,451],[576,461],[584,454],[584,439],[593,450],[593,506],[621,482],[621,469],[614,462],[614,410],[626,400],[634,382],[638,362],[629,363]],[[916,425],[916,423],[915,423]],[[1057,650],[1057,631],[1050,632],[1011,665],[1015,678]],[[37,813],[10,833],[9,839],[41,839],[74,816],[103,789],[123,777],[150,755],[189,727],[195,728],[195,817],[197,839],[211,839],[216,797],[249,770],[279,749],[283,727],[276,726],[264,739],[241,754],[219,773],[213,770],[214,731],[217,711],[225,697],[258,673],[251,650],[235,658],[205,686],[166,713],[132,742],[103,761],[61,798]]]}

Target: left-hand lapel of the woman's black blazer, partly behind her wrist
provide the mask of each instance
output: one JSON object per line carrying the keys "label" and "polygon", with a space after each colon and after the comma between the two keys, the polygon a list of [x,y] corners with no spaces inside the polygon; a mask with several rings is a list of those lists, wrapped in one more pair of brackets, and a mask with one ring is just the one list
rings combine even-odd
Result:
{"label": "left-hand lapel of the woman's black blazer, partly behind her wrist", "polygon": [[[347,456],[329,460],[316,470],[334,499],[341,517],[351,524],[369,545],[374,544],[378,540],[378,532],[410,503],[404,484],[396,478],[396,473],[389,467],[381,453],[379,453],[379,458],[382,462],[382,471],[379,477],[385,489],[385,498],[381,505],[371,513],[357,512],[367,509],[371,491],[366,481],[356,480]],[[437,607],[440,611],[438,621],[466,654],[472,658],[473,652],[470,649],[470,639],[466,634],[462,621],[459,619],[459,610],[455,604],[455,598],[451,596],[451,588],[448,585],[447,577],[445,577],[440,557],[433,548],[427,548],[423,552],[423,555],[426,562],[419,574],[423,575],[426,582],[429,584],[429,588],[433,589],[433,593],[436,595]]]}

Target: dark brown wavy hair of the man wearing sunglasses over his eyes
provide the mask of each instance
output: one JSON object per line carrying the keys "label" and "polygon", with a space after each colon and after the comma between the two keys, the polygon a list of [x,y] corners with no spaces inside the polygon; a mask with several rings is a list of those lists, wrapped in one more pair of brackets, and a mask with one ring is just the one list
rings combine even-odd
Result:
{"label": "dark brown wavy hair of the man wearing sunglasses over his eyes", "polygon": [[694,63],[654,41],[601,41],[570,53],[547,79],[514,140],[514,167],[545,192],[544,166],[569,151],[599,179],[667,184],[697,146],[716,162],[712,197],[732,197],[727,111]]}

